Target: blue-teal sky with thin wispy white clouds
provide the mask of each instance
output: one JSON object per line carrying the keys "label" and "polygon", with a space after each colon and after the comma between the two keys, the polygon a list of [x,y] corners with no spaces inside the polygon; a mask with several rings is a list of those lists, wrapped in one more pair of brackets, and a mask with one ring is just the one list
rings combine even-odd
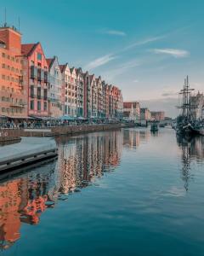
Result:
{"label": "blue-teal sky with thin wispy white clouds", "polygon": [[23,43],[122,89],[124,101],[175,116],[186,75],[204,91],[202,0],[0,0]]}

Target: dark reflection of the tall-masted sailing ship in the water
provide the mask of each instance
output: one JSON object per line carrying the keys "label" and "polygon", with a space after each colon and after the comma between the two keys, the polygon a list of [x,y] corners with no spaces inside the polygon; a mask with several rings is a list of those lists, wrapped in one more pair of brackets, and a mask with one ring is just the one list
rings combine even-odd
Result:
{"label": "dark reflection of the tall-masted sailing ship in the water", "polygon": [[177,142],[182,152],[182,179],[184,180],[184,188],[187,191],[192,178],[190,162],[192,160],[198,162],[204,160],[204,137],[177,137]]}

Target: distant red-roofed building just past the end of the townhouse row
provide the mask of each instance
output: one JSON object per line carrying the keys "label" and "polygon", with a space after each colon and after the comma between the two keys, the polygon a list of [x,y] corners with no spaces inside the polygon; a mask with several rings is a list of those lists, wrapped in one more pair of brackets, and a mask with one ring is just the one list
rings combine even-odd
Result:
{"label": "distant red-roofed building just past the end of the townhouse row", "polygon": [[132,121],[140,119],[139,102],[123,102],[123,118]]}

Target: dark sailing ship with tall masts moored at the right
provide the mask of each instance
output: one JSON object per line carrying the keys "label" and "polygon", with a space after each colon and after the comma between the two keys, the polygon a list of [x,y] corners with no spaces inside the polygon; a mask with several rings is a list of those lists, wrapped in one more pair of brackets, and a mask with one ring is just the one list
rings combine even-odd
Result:
{"label": "dark sailing ship with tall masts moored at the right", "polygon": [[197,106],[190,102],[190,93],[194,89],[190,88],[189,78],[184,79],[184,89],[180,90],[179,94],[182,95],[182,104],[177,108],[181,109],[180,115],[177,118],[176,131],[178,134],[185,136],[193,136],[196,134],[204,136],[204,120],[196,119],[192,114],[193,109]]}

